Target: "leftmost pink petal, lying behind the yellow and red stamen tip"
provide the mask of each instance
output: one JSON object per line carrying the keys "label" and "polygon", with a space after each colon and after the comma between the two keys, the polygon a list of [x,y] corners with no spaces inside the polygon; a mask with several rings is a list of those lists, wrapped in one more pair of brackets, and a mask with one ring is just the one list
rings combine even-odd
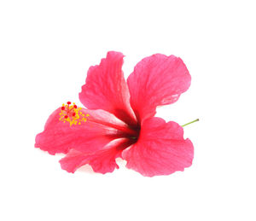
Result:
{"label": "leftmost pink petal, lying behind the yellow and red stamen tip", "polygon": [[71,126],[59,119],[60,112],[61,108],[57,108],[49,116],[44,131],[36,137],[35,147],[49,154],[67,154],[72,148],[84,153],[95,152],[123,133],[132,133],[128,125],[103,110],[83,108],[81,112],[89,114],[87,121]]}

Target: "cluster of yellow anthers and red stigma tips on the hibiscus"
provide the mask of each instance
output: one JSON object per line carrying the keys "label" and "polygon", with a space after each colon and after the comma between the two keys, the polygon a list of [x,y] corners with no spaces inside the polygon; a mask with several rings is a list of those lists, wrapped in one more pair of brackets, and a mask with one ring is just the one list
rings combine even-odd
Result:
{"label": "cluster of yellow anthers and red stigma tips on the hibiscus", "polygon": [[71,102],[67,102],[67,104],[62,104],[61,113],[59,120],[63,123],[68,122],[70,126],[72,125],[81,125],[82,123],[86,122],[86,118],[89,114],[84,114],[82,108],[78,108],[78,106]]}

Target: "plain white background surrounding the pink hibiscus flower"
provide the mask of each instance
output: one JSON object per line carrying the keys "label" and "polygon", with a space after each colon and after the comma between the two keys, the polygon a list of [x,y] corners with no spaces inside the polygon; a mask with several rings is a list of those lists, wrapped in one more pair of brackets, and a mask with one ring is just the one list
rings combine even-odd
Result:
{"label": "plain white background surrounding the pink hibiscus flower", "polygon": [[[1,1],[0,219],[256,220],[255,20],[253,1]],[[190,89],[157,113],[201,119],[184,128],[185,172],[70,174],[33,147],[108,50],[125,54],[126,77],[154,53],[189,68]]]}

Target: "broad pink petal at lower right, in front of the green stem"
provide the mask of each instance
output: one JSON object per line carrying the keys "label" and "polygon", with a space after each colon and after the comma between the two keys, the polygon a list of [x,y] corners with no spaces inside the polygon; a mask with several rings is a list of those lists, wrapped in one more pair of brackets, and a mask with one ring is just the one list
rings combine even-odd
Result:
{"label": "broad pink petal at lower right, in front of the green stem", "polygon": [[153,177],[183,171],[192,164],[194,148],[183,139],[183,128],[175,122],[150,118],[143,121],[140,137],[122,153],[126,167]]}

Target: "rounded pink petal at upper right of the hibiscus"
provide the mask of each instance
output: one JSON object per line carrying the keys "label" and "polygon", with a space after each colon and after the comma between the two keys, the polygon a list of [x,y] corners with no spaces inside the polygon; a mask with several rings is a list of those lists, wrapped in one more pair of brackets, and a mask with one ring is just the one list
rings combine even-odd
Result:
{"label": "rounded pink petal at upper right of the hibiscus", "polygon": [[144,58],[127,79],[137,119],[153,117],[157,106],[176,102],[190,82],[189,71],[180,58],[160,54]]}

